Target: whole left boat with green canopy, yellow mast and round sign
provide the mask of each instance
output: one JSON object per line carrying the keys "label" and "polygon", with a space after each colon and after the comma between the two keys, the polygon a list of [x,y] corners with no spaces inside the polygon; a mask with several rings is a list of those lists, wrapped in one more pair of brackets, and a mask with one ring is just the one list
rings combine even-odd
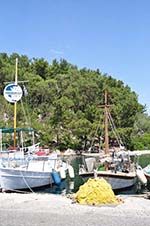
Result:
{"label": "whole left boat with green canopy, yellow mast and round sign", "polygon": [[[61,178],[56,169],[59,170],[62,168],[67,169],[67,164],[64,166],[60,159],[57,156],[48,156],[48,157],[34,157],[33,153],[28,152],[25,156],[24,150],[26,147],[19,148],[18,151],[16,146],[16,134],[26,130],[27,132],[32,133],[31,128],[21,129],[16,126],[16,108],[17,102],[22,97],[22,89],[18,85],[17,80],[17,71],[18,71],[18,59],[16,59],[16,73],[15,73],[15,82],[8,84],[4,89],[5,98],[14,104],[14,128],[2,128],[0,129],[0,146],[1,146],[1,155],[2,151],[2,134],[3,133],[13,133],[14,135],[14,147],[13,153],[21,153],[21,155],[15,155],[13,158],[1,158],[0,162],[0,185],[2,191],[18,191],[22,189],[29,189],[32,191],[33,188],[51,185],[52,183],[59,184]],[[35,144],[30,148],[36,148]],[[29,149],[29,147],[28,147]],[[7,150],[7,153],[10,154],[12,151]]]}

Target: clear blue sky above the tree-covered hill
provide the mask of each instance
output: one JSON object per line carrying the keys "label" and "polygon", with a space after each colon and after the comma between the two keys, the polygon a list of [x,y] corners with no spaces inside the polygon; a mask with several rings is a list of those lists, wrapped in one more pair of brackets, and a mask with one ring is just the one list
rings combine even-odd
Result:
{"label": "clear blue sky above the tree-covered hill", "polygon": [[149,0],[0,0],[0,52],[99,68],[150,114]]}

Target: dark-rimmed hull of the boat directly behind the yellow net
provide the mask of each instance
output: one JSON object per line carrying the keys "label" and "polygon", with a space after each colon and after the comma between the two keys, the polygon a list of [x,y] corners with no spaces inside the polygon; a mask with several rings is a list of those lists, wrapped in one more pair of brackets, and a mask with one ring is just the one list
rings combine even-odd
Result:
{"label": "dark-rimmed hull of the boat directly behind the yellow net", "polygon": [[80,176],[83,179],[98,177],[104,178],[112,187],[113,190],[124,190],[135,185],[137,181],[136,174],[132,173],[113,173],[107,171],[96,171],[95,173],[82,173]]}

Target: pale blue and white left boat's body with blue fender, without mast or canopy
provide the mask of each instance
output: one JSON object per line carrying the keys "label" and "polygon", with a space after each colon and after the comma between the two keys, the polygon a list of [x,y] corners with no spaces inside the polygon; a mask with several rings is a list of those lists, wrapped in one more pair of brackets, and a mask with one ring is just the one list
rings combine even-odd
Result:
{"label": "pale blue and white left boat's body with blue fender, without mast or canopy", "polygon": [[[65,179],[68,169],[67,163],[60,160],[57,155],[49,157],[31,156],[31,160],[25,160],[24,164],[18,166],[18,160],[3,162],[0,166],[0,182],[3,191],[14,191],[39,188],[46,185],[60,184]],[[63,178],[60,174],[63,172]]]}

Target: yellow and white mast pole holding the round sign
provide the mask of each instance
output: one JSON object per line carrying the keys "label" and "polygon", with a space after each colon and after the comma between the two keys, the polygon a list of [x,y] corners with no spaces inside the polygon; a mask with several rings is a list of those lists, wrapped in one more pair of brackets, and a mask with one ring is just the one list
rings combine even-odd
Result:
{"label": "yellow and white mast pole holding the round sign", "polygon": [[[16,58],[15,85],[18,85],[18,58]],[[16,147],[17,101],[14,103],[14,148]]]}

